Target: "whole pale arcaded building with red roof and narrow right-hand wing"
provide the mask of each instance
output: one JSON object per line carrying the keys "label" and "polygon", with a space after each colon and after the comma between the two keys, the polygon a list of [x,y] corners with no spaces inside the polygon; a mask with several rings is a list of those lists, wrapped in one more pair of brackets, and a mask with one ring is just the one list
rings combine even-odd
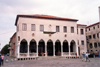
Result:
{"label": "whole pale arcaded building with red roof and narrow right-hand wing", "polygon": [[17,15],[15,57],[75,57],[75,53],[79,57],[87,51],[86,25],[77,21],[49,15]]}

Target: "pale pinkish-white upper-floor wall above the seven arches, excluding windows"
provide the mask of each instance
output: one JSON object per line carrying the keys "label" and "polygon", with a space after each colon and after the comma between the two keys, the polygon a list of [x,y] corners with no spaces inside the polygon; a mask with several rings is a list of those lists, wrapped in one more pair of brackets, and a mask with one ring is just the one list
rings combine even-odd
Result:
{"label": "pale pinkish-white upper-floor wall above the seven arches, excluding windows", "polygon": [[[22,31],[22,23],[27,24],[27,31]],[[36,31],[31,31],[31,24],[36,25]],[[20,36],[21,40],[26,39],[28,42],[30,42],[32,39],[35,39],[37,42],[40,39],[45,40],[45,42],[49,39],[53,40],[53,42],[55,42],[57,39],[59,39],[61,42],[63,42],[65,39],[68,42],[71,42],[72,40],[74,40],[75,42],[77,41],[76,22],[34,18],[19,18],[18,25],[18,36]],[[44,34],[43,32],[40,32],[40,25],[44,25],[44,31],[53,32],[56,32],[56,26],[60,26],[60,32],[56,32],[52,34],[51,37],[49,37],[49,34]],[[49,25],[51,25],[51,29]],[[63,32],[63,26],[67,26],[67,33]],[[71,33],[71,27],[74,27],[74,33]],[[32,36],[32,33],[34,33],[35,35]],[[65,34],[67,34],[67,37],[64,36]]]}

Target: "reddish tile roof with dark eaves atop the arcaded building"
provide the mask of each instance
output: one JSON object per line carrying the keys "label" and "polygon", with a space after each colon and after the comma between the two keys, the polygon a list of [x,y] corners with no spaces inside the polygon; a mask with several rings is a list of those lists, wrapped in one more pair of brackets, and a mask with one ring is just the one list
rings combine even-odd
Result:
{"label": "reddish tile roof with dark eaves atop the arcaded building", "polygon": [[41,19],[51,19],[51,20],[62,20],[62,21],[78,21],[77,19],[70,19],[70,18],[62,18],[62,17],[56,17],[51,15],[17,15],[15,25],[17,25],[17,21],[19,17],[26,17],[26,18],[41,18]]}

